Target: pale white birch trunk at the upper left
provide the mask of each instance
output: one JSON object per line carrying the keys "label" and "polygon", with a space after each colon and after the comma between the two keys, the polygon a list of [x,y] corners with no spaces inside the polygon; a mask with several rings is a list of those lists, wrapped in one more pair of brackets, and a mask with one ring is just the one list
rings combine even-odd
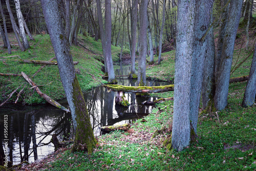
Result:
{"label": "pale white birch trunk at the upper left", "polygon": [[16,12],[18,17],[18,26],[20,30],[20,36],[22,37],[23,46],[26,50],[26,49],[29,49],[30,46],[29,46],[27,35],[25,33],[25,29],[24,29],[24,19],[22,16],[22,10],[20,10],[19,0],[14,0],[14,2],[15,2],[15,7],[16,7]]}

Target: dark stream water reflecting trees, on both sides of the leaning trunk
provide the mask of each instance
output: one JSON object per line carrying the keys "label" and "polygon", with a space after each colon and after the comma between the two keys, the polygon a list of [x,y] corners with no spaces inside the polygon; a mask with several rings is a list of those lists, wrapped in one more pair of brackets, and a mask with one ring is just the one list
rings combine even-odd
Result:
{"label": "dark stream water reflecting trees, on both sides of the leaning trunk", "polygon": [[[115,66],[116,75],[127,75],[130,67]],[[136,80],[119,77],[118,84],[135,86]],[[148,81],[148,86],[160,86],[166,82]],[[116,92],[108,93],[103,87],[98,87],[84,94],[95,136],[101,135],[100,127],[105,125],[132,123],[138,118],[146,116],[152,111],[152,106],[142,105],[145,100],[156,98],[137,97],[126,93],[130,102],[129,108],[122,108],[115,104]],[[58,101],[68,108],[66,99]],[[8,137],[4,137],[5,115],[8,115]],[[56,134],[59,141],[74,138],[71,114],[55,108],[52,105],[5,105],[0,108],[0,165],[5,157],[5,142],[8,142],[8,161],[13,164],[28,160],[33,162],[47,154],[54,152],[50,142],[52,134]],[[7,139],[7,140],[6,140]]]}

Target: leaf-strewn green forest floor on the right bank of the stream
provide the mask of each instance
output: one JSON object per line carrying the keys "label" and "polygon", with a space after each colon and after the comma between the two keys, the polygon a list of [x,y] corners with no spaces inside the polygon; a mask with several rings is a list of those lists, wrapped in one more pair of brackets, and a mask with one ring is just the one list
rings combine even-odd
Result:
{"label": "leaf-strewn green forest floor on the right bank of the stream", "polygon": [[[250,53],[244,50],[244,31],[240,30],[238,36],[233,66]],[[161,65],[147,66],[147,76],[172,81],[175,51],[163,53],[162,58]],[[248,75],[251,58],[252,55],[231,77]],[[97,147],[90,156],[86,152],[70,153],[70,147],[60,148],[45,159],[19,167],[19,170],[255,170],[256,108],[255,105],[241,106],[246,83],[229,85],[226,109],[199,115],[197,140],[182,152],[168,151],[163,145],[173,117],[173,101],[165,101],[157,104],[151,114],[134,122],[129,131],[97,137]],[[151,96],[173,97],[174,94],[165,92]],[[165,131],[152,138],[162,127]]]}

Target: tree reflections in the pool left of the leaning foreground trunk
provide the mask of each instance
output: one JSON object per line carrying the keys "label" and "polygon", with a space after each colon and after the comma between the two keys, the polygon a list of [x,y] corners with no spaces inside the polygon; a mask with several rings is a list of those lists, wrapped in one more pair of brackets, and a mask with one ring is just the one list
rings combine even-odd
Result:
{"label": "tree reflections in the pool left of the leaning foreground trunk", "polygon": [[[9,166],[22,161],[37,160],[48,152],[38,154],[38,148],[51,148],[52,134],[61,140],[69,139],[71,133],[71,114],[50,108],[50,110],[15,111],[8,113]],[[2,111],[0,111],[2,113]],[[7,113],[6,113],[7,114]],[[1,130],[2,124],[0,124]],[[3,133],[0,133],[0,164],[3,165]],[[50,146],[49,146],[50,145]],[[47,146],[47,147],[46,147]],[[43,154],[42,154],[43,153]]]}

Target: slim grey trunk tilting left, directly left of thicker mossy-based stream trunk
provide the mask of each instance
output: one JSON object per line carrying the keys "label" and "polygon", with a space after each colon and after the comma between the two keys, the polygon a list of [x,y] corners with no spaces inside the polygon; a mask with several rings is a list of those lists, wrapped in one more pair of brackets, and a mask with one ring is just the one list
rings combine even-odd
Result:
{"label": "slim grey trunk tilting left, directly left of thicker mossy-based stream trunk", "polygon": [[105,55],[105,33],[103,28],[103,19],[102,19],[100,0],[96,0],[96,3],[97,3],[97,12],[98,12],[99,31],[101,35],[101,45],[102,45],[104,65],[105,65],[105,74],[107,74],[108,65],[106,65],[106,55]]}

